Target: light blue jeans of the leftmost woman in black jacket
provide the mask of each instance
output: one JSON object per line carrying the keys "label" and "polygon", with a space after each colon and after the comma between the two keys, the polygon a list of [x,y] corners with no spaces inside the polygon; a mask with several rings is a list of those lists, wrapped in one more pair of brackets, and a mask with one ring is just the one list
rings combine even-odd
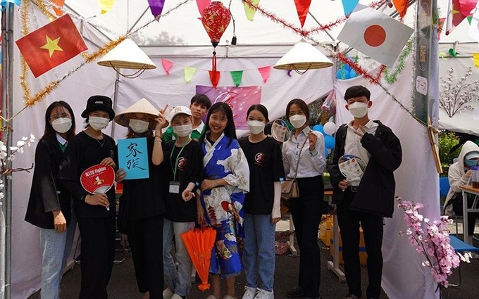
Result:
{"label": "light blue jeans of the leftmost woman in black jacket", "polygon": [[60,281],[67,258],[72,249],[77,221],[75,213],[66,231],[59,233],[55,229],[40,229],[40,248],[42,249],[42,299],[58,299]]}

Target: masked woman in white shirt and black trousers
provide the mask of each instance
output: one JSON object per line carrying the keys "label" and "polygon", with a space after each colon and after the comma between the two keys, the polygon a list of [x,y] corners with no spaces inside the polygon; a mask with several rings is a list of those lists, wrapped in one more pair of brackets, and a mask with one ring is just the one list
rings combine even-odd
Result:
{"label": "masked woman in white shirt and black trousers", "polygon": [[321,266],[318,227],[323,208],[324,137],[312,131],[309,108],[295,98],[286,106],[286,117],[294,129],[282,146],[283,165],[289,178],[297,178],[299,198],[290,198],[290,210],[299,250],[298,287],[287,292],[289,298],[318,298]]}

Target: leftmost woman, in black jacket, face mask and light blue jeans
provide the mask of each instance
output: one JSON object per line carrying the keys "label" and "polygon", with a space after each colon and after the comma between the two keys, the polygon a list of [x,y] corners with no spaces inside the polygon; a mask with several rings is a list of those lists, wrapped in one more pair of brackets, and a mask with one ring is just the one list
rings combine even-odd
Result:
{"label": "leftmost woman, in black jacket, face mask and light blue jeans", "polygon": [[40,228],[42,298],[59,298],[66,259],[70,255],[77,222],[72,200],[56,177],[68,141],[75,136],[75,117],[64,101],[46,108],[45,132],[35,151],[35,170],[25,221]]}

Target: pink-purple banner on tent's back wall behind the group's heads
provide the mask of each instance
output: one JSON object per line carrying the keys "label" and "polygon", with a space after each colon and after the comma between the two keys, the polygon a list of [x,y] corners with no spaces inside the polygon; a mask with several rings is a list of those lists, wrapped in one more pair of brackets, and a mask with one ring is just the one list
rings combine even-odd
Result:
{"label": "pink-purple banner on tent's back wall behind the group's heads", "polygon": [[197,85],[197,94],[206,94],[211,103],[225,102],[233,110],[236,129],[248,129],[247,112],[251,105],[261,103],[261,87],[217,87]]}

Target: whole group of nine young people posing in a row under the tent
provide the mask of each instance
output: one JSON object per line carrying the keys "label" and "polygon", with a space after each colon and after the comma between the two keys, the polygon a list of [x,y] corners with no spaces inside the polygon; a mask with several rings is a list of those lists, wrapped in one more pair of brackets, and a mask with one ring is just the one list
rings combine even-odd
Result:
{"label": "whole group of nine young people posing in a row under the tent", "polygon": [[[361,297],[360,224],[369,256],[366,293],[368,298],[379,297],[382,217],[392,216],[392,172],[402,158],[399,139],[385,125],[368,119],[370,96],[361,86],[346,91],[346,107],[354,120],[338,129],[330,165],[349,286],[346,298],[352,299]],[[75,221],[82,238],[80,298],[107,298],[116,231],[116,209],[108,207],[116,206],[115,192],[88,193],[80,175],[97,164],[118,168],[115,141],[102,132],[113,119],[127,127],[126,138],[147,139],[149,178],[128,179],[125,170],[116,170],[116,182],[123,182],[120,211],[126,211],[120,212],[121,227],[130,242],[143,299],[187,298],[192,262],[180,235],[204,225],[216,229],[209,269],[212,292],[207,299],[237,298],[235,279],[243,270],[247,281],[243,299],[274,298],[275,224],[281,217],[280,182],[285,178],[295,178],[299,185],[299,198],[290,199],[290,210],[301,250],[298,287],[286,295],[319,298],[325,145],[323,134],[309,128],[304,101],[287,103],[285,117],[294,129],[282,145],[264,133],[269,119],[263,105],[249,108],[250,134],[238,140],[230,106],[211,105],[202,94],[193,96],[189,108],[176,106],[168,115],[166,108],[158,111],[146,99],[115,115],[110,98],[92,96],[82,117],[85,130],[75,135],[68,103],[52,103],[35,153],[25,220],[40,227],[42,298],[58,298]],[[354,188],[337,168],[344,153],[357,155],[368,165]],[[370,205],[378,202],[380,206],[371,210]],[[170,253],[172,240],[178,265]]]}

